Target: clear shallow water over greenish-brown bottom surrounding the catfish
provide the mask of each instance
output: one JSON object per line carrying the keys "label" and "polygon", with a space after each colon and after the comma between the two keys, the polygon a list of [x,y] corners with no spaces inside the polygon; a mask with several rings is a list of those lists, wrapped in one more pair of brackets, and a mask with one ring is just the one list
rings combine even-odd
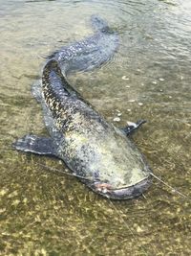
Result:
{"label": "clear shallow water over greenish-brown bottom surrounding the catfish", "polygon": [[[93,33],[94,13],[120,46],[71,83],[118,127],[148,120],[134,140],[154,174],[187,198],[153,180],[144,198],[111,202],[50,172],[63,170],[59,161],[11,150],[26,133],[46,134],[32,82],[55,49]],[[0,0],[0,255],[191,254],[190,13],[189,0]]]}

